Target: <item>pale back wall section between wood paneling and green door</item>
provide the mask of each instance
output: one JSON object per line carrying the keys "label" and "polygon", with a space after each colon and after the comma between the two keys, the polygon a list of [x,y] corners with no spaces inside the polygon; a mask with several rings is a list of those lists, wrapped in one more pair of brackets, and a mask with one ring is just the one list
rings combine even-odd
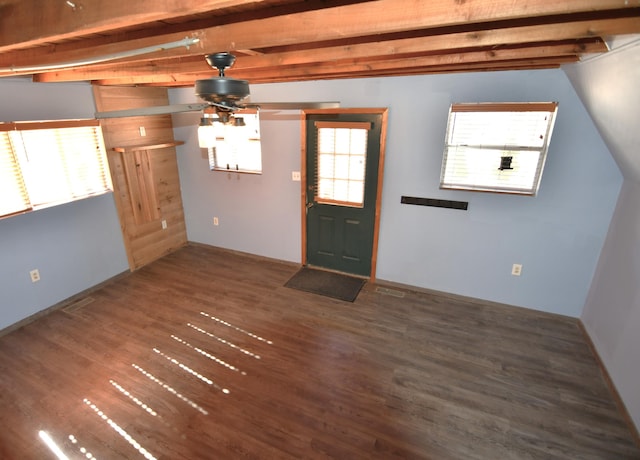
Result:
{"label": "pale back wall section between wood paneling and green door", "polygon": [[[170,99],[192,101],[192,94],[172,90]],[[173,116],[175,138],[186,142],[178,147],[178,165],[189,241],[299,262],[300,182],[291,180],[291,171],[300,170],[299,115],[261,115],[261,175],[209,171],[198,122],[198,114]]]}

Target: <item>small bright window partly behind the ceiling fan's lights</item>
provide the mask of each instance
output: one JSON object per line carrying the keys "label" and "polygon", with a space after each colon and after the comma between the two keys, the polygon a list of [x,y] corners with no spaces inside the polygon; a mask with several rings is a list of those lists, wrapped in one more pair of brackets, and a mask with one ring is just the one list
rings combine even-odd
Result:
{"label": "small bright window partly behind the ceiling fan's lights", "polygon": [[257,111],[239,111],[238,124],[214,123],[215,147],[207,149],[212,171],[262,173],[260,118]]}

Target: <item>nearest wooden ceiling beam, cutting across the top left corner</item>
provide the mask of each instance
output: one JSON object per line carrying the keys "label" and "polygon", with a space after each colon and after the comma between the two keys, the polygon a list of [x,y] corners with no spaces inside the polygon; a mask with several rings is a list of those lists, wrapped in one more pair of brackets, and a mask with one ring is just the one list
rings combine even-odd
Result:
{"label": "nearest wooden ceiling beam, cutting across the top left corner", "polygon": [[0,52],[264,1],[4,1],[0,4]]}

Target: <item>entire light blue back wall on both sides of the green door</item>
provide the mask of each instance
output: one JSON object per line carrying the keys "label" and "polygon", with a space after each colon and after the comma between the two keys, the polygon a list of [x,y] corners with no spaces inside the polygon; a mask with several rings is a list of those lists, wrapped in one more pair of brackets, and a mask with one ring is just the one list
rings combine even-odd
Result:
{"label": "entire light blue back wall on both sides of the green door", "polygon": [[[622,177],[562,71],[253,85],[252,98],[389,108],[380,280],[581,314]],[[170,99],[196,100],[191,89],[172,90]],[[560,103],[537,197],[439,190],[449,106],[483,101]],[[264,174],[229,177],[208,171],[198,115],[175,117],[186,141],[179,167],[188,237],[299,262],[300,188],[291,171],[300,169],[300,123],[295,112],[267,115]],[[469,201],[469,211],[402,205],[402,195]],[[511,275],[513,263],[523,265],[522,276]]]}

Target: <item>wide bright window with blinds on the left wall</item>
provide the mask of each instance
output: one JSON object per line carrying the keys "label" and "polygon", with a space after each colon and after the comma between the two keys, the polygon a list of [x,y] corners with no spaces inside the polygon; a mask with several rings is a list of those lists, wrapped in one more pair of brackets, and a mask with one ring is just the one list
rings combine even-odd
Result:
{"label": "wide bright window with blinds on the left wall", "polygon": [[113,189],[97,120],[0,124],[0,217]]}

